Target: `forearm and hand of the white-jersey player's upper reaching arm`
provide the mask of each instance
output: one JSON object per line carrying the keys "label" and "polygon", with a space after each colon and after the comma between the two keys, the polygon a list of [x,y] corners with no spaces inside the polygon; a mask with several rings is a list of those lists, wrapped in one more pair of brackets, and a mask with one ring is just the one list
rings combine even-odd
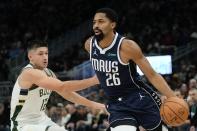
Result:
{"label": "forearm and hand of the white-jersey player's upper reaching arm", "polygon": [[90,86],[98,84],[98,81],[95,80],[93,77],[83,80],[72,80],[72,81],[65,81],[62,85],[62,91],[79,91],[86,89]]}

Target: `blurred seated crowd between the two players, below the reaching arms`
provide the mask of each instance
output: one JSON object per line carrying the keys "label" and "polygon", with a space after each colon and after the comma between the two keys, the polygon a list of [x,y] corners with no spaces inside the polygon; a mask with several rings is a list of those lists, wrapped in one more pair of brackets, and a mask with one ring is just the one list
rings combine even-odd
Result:
{"label": "blurred seated crowd between the two players, below the reaching arms", "polygon": [[[92,92],[86,97],[105,103],[103,90],[98,88],[98,92]],[[62,98],[54,101],[57,97],[54,93],[50,98],[47,114],[58,125],[69,131],[104,131],[109,127],[107,112],[69,103]]]}

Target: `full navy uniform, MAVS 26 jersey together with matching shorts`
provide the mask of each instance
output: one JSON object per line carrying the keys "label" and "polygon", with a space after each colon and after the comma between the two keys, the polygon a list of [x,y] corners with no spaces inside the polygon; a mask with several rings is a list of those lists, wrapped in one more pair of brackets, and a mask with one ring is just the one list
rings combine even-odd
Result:
{"label": "full navy uniform, MAVS 26 jersey together with matching shorts", "polygon": [[[110,112],[110,127],[118,125],[142,125],[153,130],[161,123],[157,93],[145,84],[133,61],[128,64],[120,59],[120,46],[124,37],[116,33],[107,48],[100,48],[93,37],[90,42],[90,60],[108,96],[107,110]],[[132,50],[131,50],[132,51]]]}

